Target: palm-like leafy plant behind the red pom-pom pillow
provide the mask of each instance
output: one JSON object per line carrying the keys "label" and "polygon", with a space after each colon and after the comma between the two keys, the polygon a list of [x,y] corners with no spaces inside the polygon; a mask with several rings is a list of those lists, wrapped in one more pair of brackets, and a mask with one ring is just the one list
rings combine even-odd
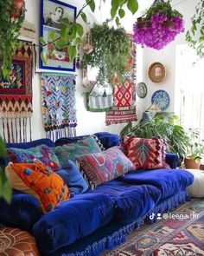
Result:
{"label": "palm-like leafy plant behind the red pom-pom pillow", "polygon": [[137,135],[142,138],[161,136],[167,143],[167,151],[183,158],[187,153],[188,136],[178,124],[178,116],[156,115],[151,120],[142,120],[136,126],[129,123],[121,135]]}

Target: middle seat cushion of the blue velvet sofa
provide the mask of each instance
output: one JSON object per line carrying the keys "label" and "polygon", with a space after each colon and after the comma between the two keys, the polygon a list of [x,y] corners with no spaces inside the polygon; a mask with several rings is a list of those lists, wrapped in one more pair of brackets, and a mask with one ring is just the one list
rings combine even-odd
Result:
{"label": "middle seat cushion of the blue velvet sofa", "polygon": [[107,194],[116,204],[114,220],[130,223],[143,218],[155,207],[161,192],[151,185],[130,185],[120,181],[109,181],[99,185],[93,193]]}

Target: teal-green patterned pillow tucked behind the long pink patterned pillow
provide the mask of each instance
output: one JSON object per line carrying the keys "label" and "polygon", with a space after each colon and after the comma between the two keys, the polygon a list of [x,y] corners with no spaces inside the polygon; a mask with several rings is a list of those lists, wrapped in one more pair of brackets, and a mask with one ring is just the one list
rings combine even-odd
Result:
{"label": "teal-green patterned pillow tucked behind the long pink patterned pillow", "polygon": [[54,153],[57,155],[61,166],[67,164],[67,159],[76,161],[76,157],[79,155],[99,152],[101,152],[101,150],[91,135],[74,143],[54,148]]}

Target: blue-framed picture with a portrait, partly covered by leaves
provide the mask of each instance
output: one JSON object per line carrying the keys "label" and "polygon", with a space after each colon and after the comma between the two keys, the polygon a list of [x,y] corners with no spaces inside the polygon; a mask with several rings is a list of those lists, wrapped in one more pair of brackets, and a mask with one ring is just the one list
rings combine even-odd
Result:
{"label": "blue-framed picture with a portrait, partly covered by leaves", "polygon": [[[48,35],[52,30],[55,30],[55,39],[60,37],[61,19],[68,18],[72,23],[76,17],[76,7],[73,5],[57,1],[57,0],[41,0],[41,36],[48,43]],[[66,49],[56,49],[52,54],[53,45],[48,43],[43,50],[46,51],[48,62],[44,63],[40,58],[40,69],[54,69],[64,71],[75,71],[75,60],[69,61]],[[42,48],[40,49],[40,51]]]}

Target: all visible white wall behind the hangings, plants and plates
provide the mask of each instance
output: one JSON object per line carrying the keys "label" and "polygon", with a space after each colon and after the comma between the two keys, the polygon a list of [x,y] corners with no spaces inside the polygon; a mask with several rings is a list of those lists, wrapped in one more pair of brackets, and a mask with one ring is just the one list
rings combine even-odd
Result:
{"label": "all visible white wall behind the hangings, plants and plates", "polygon": [[[74,1],[74,0],[64,0],[66,3],[76,5],[79,9],[82,3],[85,1]],[[79,3],[80,2],[80,3]],[[97,2],[97,1],[96,1]],[[92,14],[88,9],[86,9],[86,14],[88,15],[88,20],[93,22],[105,21],[107,15],[110,12],[109,5],[110,1],[106,1],[105,6],[102,7],[101,11]],[[136,21],[137,16],[140,16],[144,8],[150,6],[152,0],[145,1],[140,0],[140,11],[137,15],[131,16],[131,14],[125,16],[123,20],[123,25],[125,30],[130,31],[132,29],[132,24]],[[186,0],[182,3],[177,4],[175,7],[180,10],[184,18],[188,21],[190,16],[194,12],[194,5],[196,1]],[[37,29],[37,34],[35,38],[35,43],[38,44],[39,38],[39,0],[25,0],[26,9],[26,20],[35,23]],[[188,25],[188,22],[187,22]],[[150,106],[150,97],[156,89],[165,89],[169,92],[171,103],[167,110],[172,111],[174,109],[174,94],[175,94],[175,45],[176,43],[184,42],[185,33],[181,36],[177,36],[174,43],[170,43],[166,48],[157,51],[154,49],[141,49],[138,47],[137,50],[137,82],[146,82],[148,86],[148,95],[144,99],[138,99],[137,102],[137,115],[140,118],[141,113],[147,107]],[[167,69],[167,78],[164,82],[160,84],[155,84],[150,82],[147,72],[150,63],[152,62],[162,62]],[[98,131],[110,131],[114,133],[119,133],[124,125],[112,125],[109,127],[105,126],[105,113],[92,113],[86,111],[85,96],[83,93],[86,89],[83,88],[81,84],[81,73],[77,71],[77,82],[76,82],[76,107],[77,107],[77,135],[85,135]],[[42,116],[41,116],[41,84],[40,75],[36,74],[33,78],[33,108],[34,114],[32,117],[32,135],[33,139],[38,139],[45,137],[45,133],[42,126]]]}

